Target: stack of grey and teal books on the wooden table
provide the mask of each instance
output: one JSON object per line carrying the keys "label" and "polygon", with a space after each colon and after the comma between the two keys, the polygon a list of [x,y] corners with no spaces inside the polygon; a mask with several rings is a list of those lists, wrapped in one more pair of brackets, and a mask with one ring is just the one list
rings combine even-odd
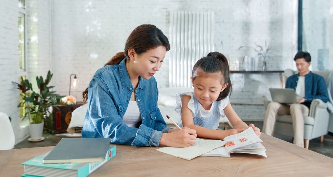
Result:
{"label": "stack of grey and teal books on the wooden table", "polygon": [[23,177],[85,177],[116,156],[110,138],[63,138],[52,151],[23,162]]}

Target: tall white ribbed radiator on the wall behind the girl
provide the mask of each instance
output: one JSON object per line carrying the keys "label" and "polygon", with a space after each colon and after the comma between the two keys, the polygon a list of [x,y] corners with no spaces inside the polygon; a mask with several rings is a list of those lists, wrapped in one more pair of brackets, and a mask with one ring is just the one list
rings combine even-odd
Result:
{"label": "tall white ribbed radiator on the wall behind the girl", "polygon": [[197,60],[214,51],[213,12],[170,12],[169,87],[191,87]]}

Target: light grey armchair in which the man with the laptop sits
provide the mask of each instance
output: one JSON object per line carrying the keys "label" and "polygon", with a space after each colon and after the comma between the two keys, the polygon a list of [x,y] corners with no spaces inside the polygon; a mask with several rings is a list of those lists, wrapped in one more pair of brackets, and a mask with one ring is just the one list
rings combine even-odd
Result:
{"label": "light grey armchair in which the man with the laptop sits", "polygon": [[[285,80],[289,76],[293,75],[294,72],[291,69],[284,71]],[[327,83],[328,75],[330,71],[313,71],[313,73],[324,77]],[[266,96],[262,96],[265,109],[267,109],[268,103]],[[309,148],[309,142],[313,138],[320,137],[320,142],[323,142],[324,135],[328,132],[329,122],[329,111],[327,110],[327,104],[320,99],[314,99],[311,102],[309,109],[309,116],[304,116],[304,146],[306,149]],[[290,115],[279,115],[275,124],[275,134],[294,136],[292,119]]]}

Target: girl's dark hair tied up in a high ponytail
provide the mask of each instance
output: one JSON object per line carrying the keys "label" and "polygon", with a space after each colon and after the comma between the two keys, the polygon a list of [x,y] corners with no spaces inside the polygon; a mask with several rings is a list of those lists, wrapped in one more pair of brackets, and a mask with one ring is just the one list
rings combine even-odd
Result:
{"label": "girl's dark hair tied up in a high ponytail", "polygon": [[194,81],[195,72],[200,70],[204,73],[221,73],[224,80],[221,81],[221,85],[228,83],[227,87],[220,93],[217,101],[226,98],[229,94],[231,95],[231,81],[229,77],[229,65],[227,58],[219,52],[210,52],[206,57],[200,58],[193,66],[192,69],[192,81]]}

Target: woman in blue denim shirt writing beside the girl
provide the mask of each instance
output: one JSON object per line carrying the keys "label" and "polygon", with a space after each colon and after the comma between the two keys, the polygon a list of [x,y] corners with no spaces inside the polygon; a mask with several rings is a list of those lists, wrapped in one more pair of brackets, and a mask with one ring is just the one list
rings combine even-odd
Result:
{"label": "woman in blue denim shirt writing beside the girl", "polygon": [[170,44],[154,25],[132,31],[119,52],[97,70],[82,93],[88,111],[82,137],[110,137],[111,143],[132,146],[186,147],[195,143],[195,130],[170,129],[157,107],[153,75],[160,70]]}

